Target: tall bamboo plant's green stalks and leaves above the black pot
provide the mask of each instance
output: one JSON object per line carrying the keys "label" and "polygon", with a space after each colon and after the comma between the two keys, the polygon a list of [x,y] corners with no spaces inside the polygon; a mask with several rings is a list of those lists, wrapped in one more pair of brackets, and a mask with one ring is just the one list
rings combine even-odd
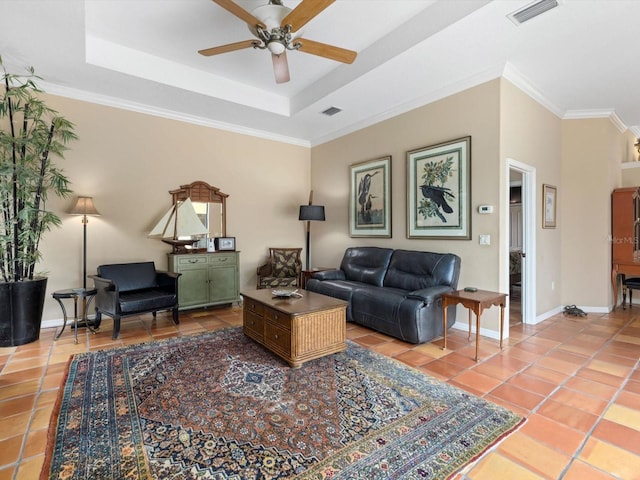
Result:
{"label": "tall bamboo plant's green stalks and leaves above the black pot", "polygon": [[52,162],[77,137],[71,122],[41,98],[33,68],[7,73],[0,57],[0,282],[33,280],[40,238],[59,226],[50,194],[67,197],[69,180]]}

